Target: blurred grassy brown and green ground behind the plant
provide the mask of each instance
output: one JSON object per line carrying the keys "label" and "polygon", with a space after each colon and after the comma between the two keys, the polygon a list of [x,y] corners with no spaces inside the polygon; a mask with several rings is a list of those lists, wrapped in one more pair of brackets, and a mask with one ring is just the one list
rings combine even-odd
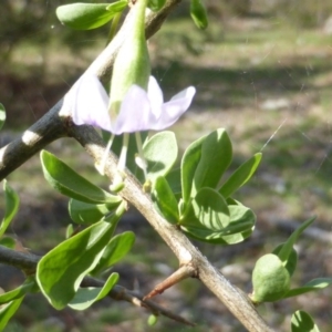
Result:
{"label": "blurred grassy brown and green ground behind the plant", "polygon": [[[108,27],[73,31],[60,24],[55,8],[72,1],[2,0],[0,7],[0,102],[8,121],[6,145],[53,106],[105,46]],[[167,100],[188,85],[197,95],[172,128],[180,152],[204,134],[225,127],[234,144],[232,169],[253,153],[263,159],[255,178],[236,195],[257,214],[250,239],[230,247],[195,242],[227,278],[251,291],[255,261],[283,242],[312,215],[317,221],[298,241],[299,267],[292,287],[332,276],[332,2],[330,0],[206,0],[210,24],[199,31],[183,1],[149,41],[154,75]],[[51,152],[80,174],[107,188],[93,162],[71,139]],[[21,198],[10,232],[42,255],[65,236],[68,199],[42,177],[39,156],[10,175]],[[3,201],[0,203],[2,209]],[[177,268],[170,250],[134,210],[118,231],[137,234],[132,253],[114,268],[121,284],[143,293]],[[10,290],[22,276],[0,266],[0,287]],[[295,310],[332,329],[332,289],[259,308],[278,331],[290,331]],[[126,303],[104,300],[86,312],[55,311],[31,295],[8,325],[11,331],[245,331],[196,280],[156,298],[197,323],[186,328]]]}

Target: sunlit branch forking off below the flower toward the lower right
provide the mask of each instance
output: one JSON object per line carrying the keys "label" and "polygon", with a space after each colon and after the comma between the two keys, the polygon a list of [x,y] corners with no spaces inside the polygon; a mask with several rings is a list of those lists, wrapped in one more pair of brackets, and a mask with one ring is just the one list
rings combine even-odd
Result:
{"label": "sunlit branch forking off below the flower toward the lower right", "polygon": [[[100,135],[90,126],[72,126],[73,136],[93,157],[100,160],[104,154],[104,143]],[[116,175],[116,157],[110,155],[106,164],[106,176],[112,180]],[[249,298],[235,288],[199,250],[193,246],[189,239],[176,227],[167,222],[154,208],[151,197],[142,190],[142,185],[127,173],[125,187],[120,193],[147,219],[154,229],[160,235],[167,246],[179,260],[180,266],[195,267],[197,278],[225,303],[232,314],[248,329],[248,331],[272,331],[258,314]]]}

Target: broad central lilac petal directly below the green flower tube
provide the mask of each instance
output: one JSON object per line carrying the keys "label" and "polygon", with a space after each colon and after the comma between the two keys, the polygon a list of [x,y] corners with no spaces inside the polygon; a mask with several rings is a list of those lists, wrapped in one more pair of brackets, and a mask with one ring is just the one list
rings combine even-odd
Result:
{"label": "broad central lilac petal directly below the green flower tube", "polygon": [[138,85],[133,85],[121,104],[113,134],[147,131],[155,121],[146,91]]}

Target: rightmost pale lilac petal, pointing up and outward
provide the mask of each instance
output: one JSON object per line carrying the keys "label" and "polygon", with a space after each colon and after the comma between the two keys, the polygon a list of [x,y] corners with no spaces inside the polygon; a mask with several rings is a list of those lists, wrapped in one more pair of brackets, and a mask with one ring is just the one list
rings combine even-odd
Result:
{"label": "rightmost pale lilac petal, pointing up and outward", "polygon": [[149,128],[160,131],[172,126],[189,108],[195,93],[196,89],[189,86],[172,97],[162,106],[160,117]]}

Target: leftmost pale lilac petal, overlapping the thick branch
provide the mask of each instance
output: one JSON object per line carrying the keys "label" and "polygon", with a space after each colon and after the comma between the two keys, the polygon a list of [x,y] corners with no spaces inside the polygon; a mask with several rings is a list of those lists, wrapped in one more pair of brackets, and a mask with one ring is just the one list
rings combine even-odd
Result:
{"label": "leftmost pale lilac petal, overlapping the thick branch", "polygon": [[73,86],[73,122],[76,125],[89,124],[112,132],[108,115],[108,95],[100,80],[84,74]]}

